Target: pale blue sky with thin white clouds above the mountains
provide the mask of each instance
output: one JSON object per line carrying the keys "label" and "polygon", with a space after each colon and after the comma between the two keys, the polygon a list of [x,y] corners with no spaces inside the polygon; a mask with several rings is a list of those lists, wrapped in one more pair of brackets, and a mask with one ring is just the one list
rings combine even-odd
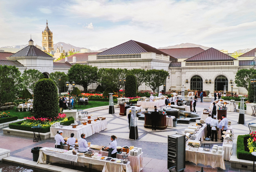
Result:
{"label": "pale blue sky with thin white clouds above the mountains", "polygon": [[0,0],[0,47],[53,43],[92,50],[136,40],[152,47],[194,43],[232,53],[256,47],[255,0]]}

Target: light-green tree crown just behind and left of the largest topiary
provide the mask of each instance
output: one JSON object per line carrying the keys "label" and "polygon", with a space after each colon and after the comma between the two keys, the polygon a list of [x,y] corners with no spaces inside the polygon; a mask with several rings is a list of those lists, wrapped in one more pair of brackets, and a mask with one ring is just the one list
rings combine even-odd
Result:
{"label": "light-green tree crown just behind and left of the largest topiary", "polygon": [[36,69],[28,69],[24,70],[22,74],[24,86],[28,89],[28,91],[34,93],[35,84],[40,79],[44,78],[44,75]]}

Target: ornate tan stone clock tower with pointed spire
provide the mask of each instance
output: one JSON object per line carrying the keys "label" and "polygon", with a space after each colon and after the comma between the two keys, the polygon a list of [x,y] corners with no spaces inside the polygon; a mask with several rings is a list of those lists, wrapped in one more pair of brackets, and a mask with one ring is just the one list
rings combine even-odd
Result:
{"label": "ornate tan stone clock tower with pointed spire", "polygon": [[46,27],[42,32],[42,47],[44,47],[48,53],[50,53],[53,50],[52,32],[48,27],[47,20],[46,20]]}

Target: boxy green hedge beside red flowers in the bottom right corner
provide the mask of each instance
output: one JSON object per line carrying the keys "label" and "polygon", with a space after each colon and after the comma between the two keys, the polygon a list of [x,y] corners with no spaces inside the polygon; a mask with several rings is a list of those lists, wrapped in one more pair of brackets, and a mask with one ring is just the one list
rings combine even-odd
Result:
{"label": "boxy green hedge beside red flowers in the bottom right corner", "polygon": [[247,145],[247,139],[249,139],[250,135],[239,135],[237,136],[237,143],[236,143],[236,155],[238,159],[241,160],[253,160],[253,155],[250,152],[245,151],[245,149],[248,150],[244,145]]}

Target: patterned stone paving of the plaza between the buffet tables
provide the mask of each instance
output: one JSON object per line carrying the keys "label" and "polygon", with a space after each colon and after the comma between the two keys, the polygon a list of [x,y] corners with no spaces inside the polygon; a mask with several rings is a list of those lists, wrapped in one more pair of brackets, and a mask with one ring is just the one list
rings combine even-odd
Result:
{"label": "patterned stone paving of the plaza between the buffet tables", "polygon": [[[212,99],[213,100],[213,99]],[[196,106],[197,113],[201,114],[205,108],[210,107],[211,102],[198,102]],[[142,110],[144,111],[144,110]],[[115,109],[115,114],[108,114],[108,110],[96,111],[91,114],[96,117],[106,117],[108,122],[108,128],[100,133],[95,133],[86,139],[95,145],[105,145],[108,146],[110,143],[110,136],[117,136],[118,146],[136,146],[141,147],[143,152],[143,163],[144,168],[142,172],[153,172],[153,171],[168,171],[167,170],[167,135],[174,133],[184,133],[185,128],[188,124],[178,124],[177,127],[167,127],[165,130],[152,131],[151,129],[144,128],[144,121],[137,120],[139,139],[130,140],[129,139],[129,128],[127,116],[120,116],[119,109]],[[248,123],[256,123],[256,118],[245,115],[245,123],[237,124],[239,112],[227,112],[227,118],[231,121],[231,126],[233,126],[234,133],[237,135],[244,135],[249,133]],[[137,118],[138,119],[138,118]],[[192,122],[189,125],[194,125]],[[11,156],[17,158],[23,158],[28,160],[33,160],[31,148],[32,147],[54,147],[55,140],[50,138],[47,140],[42,140],[33,142],[32,138],[25,138],[19,136],[11,136],[3,134],[3,130],[0,130],[0,148],[11,150]],[[206,142],[206,141],[204,141]],[[211,141],[209,142],[211,143]],[[216,142],[214,142],[215,144]],[[222,143],[218,140],[217,144]],[[236,154],[236,151],[233,152]],[[225,161],[226,170],[220,168],[212,169],[210,166],[204,167],[204,171],[239,171],[238,168],[231,168],[230,162]],[[202,165],[195,165],[190,162],[186,162],[185,171],[198,171]],[[240,170],[246,171],[246,170]]]}

